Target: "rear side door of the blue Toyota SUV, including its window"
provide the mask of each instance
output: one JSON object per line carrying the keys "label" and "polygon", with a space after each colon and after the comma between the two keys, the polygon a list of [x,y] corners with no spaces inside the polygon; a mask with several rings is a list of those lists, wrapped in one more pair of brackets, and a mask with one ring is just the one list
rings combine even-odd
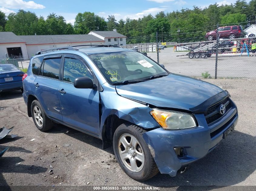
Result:
{"label": "rear side door of the blue Toyota SUV, including its window", "polygon": [[34,81],[34,93],[49,117],[62,121],[58,97],[61,54],[45,56]]}

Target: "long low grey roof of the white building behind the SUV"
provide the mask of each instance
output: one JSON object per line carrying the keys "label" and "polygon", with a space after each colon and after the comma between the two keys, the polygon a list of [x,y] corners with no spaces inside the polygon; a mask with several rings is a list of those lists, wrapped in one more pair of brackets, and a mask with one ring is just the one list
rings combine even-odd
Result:
{"label": "long low grey roof of the white building behind the SUV", "polygon": [[91,34],[63,34],[63,35],[22,35],[19,36],[28,45],[78,43],[78,42],[105,42]]}

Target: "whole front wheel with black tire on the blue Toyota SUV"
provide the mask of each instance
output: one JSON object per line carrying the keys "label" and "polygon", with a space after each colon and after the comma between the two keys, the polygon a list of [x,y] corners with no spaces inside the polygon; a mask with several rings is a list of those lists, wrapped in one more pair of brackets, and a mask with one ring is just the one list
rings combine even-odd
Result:
{"label": "whole front wheel with black tire on the blue Toyota SUV", "polygon": [[[118,164],[129,177],[137,181],[148,180],[159,172],[148,145],[142,138],[145,132],[136,125],[125,123],[116,129],[113,137],[113,149]],[[134,146],[132,142],[137,145],[135,149],[132,147]],[[122,151],[124,156],[121,156]],[[137,159],[142,159],[142,162]],[[132,161],[134,161],[133,167]]]}

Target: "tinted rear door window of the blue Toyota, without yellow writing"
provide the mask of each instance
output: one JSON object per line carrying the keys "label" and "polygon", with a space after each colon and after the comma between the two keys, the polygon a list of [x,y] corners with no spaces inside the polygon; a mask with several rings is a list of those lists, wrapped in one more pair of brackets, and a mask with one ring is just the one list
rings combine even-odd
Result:
{"label": "tinted rear door window of the blue Toyota, without yellow writing", "polygon": [[60,65],[61,58],[45,59],[42,76],[59,79]]}

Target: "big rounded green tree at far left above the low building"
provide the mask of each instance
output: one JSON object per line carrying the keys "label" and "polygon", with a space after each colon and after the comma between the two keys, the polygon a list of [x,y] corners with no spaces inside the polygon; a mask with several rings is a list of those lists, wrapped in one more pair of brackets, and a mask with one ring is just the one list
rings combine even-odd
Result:
{"label": "big rounded green tree at far left above the low building", "polygon": [[17,13],[10,13],[5,24],[5,31],[16,35],[34,35],[37,31],[38,18],[35,13],[19,10]]}

